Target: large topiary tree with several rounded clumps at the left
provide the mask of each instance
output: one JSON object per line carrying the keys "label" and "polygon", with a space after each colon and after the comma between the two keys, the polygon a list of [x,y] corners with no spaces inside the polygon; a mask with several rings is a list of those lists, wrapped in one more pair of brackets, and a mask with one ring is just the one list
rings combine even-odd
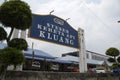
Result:
{"label": "large topiary tree with several rounded clumps at the left", "polygon": [[[8,47],[0,50],[0,80],[4,79],[9,65],[24,62],[22,50],[27,50],[27,42],[24,39],[11,39],[13,30],[26,30],[31,26],[32,13],[27,3],[21,0],[9,0],[0,6],[0,41],[6,40]],[[8,34],[5,27],[11,28]]]}

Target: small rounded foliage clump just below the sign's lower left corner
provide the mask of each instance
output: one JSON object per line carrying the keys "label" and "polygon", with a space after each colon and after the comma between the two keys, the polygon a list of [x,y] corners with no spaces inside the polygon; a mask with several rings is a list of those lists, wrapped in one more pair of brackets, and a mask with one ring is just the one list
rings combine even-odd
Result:
{"label": "small rounded foliage clump just below the sign's lower left corner", "polygon": [[22,38],[14,38],[8,43],[8,46],[19,50],[27,50],[28,44]]}

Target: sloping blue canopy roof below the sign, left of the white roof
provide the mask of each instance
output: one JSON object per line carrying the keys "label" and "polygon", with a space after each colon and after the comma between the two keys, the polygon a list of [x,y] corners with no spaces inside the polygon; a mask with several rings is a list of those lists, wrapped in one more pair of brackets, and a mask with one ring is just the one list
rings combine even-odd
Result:
{"label": "sloping blue canopy roof below the sign, left of the white roof", "polygon": [[28,59],[33,59],[33,56],[32,56],[33,51],[34,51],[34,59],[36,60],[46,60],[46,61],[57,62],[57,63],[71,63],[71,61],[55,58],[46,52],[43,52],[41,50],[36,50],[36,49],[34,50],[28,49],[28,51],[24,51],[25,57]]}

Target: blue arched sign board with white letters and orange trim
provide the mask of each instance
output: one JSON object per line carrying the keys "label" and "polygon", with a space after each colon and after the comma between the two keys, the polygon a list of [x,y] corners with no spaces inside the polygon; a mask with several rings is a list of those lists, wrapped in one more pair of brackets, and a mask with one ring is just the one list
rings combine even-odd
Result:
{"label": "blue arched sign board with white letters and orange trim", "polygon": [[33,14],[30,37],[78,48],[78,32],[54,15]]}

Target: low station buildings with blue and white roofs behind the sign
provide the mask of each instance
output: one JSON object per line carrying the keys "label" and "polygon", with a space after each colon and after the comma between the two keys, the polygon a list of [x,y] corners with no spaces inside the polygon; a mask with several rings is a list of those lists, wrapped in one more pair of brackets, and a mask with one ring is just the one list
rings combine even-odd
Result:
{"label": "low station buildings with blue and white roofs behind the sign", "polygon": [[[7,47],[6,44],[0,43],[0,49]],[[28,49],[23,51],[25,56],[25,64],[23,70],[37,70],[37,71],[58,71],[58,72],[73,72],[74,69],[79,69],[79,55],[78,52],[70,52],[62,54],[62,57],[53,57],[37,49]],[[108,70],[111,64],[107,61],[109,56],[99,53],[86,51],[87,54],[87,68],[104,67]]]}

